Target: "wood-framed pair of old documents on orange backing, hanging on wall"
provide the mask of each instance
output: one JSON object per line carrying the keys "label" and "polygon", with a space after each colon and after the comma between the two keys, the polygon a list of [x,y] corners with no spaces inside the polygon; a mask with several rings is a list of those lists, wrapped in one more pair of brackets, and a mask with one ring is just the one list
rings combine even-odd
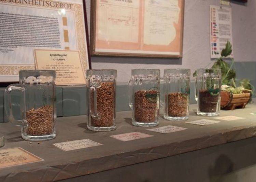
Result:
{"label": "wood-framed pair of old documents on orange backing, hanging on wall", "polygon": [[184,0],[91,0],[92,55],[182,57]]}

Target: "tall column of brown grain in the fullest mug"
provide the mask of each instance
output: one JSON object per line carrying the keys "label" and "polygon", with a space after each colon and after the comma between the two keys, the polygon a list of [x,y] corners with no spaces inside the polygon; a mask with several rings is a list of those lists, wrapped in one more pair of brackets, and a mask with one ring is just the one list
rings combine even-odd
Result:
{"label": "tall column of brown grain in the fullest mug", "polygon": [[[91,125],[94,127],[110,127],[114,125],[115,87],[112,81],[104,81],[97,90],[97,111],[101,117],[94,120],[91,117]],[[91,109],[94,110],[93,93],[90,95]],[[93,111],[94,112],[94,111]]]}

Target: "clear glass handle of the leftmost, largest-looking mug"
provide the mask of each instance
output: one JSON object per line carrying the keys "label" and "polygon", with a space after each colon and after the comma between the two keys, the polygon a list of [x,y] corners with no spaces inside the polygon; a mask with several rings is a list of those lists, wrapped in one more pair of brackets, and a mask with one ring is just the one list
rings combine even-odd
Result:
{"label": "clear glass handle of the leftmost, largest-looking mug", "polygon": [[[16,120],[13,116],[12,108],[12,91],[18,90],[22,93],[22,103],[20,103],[20,113],[22,114],[22,120]],[[25,106],[25,88],[22,84],[11,84],[6,87],[4,91],[4,109],[5,114],[9,122],[16,126],[25,127],[26,126],[26,106]]]}

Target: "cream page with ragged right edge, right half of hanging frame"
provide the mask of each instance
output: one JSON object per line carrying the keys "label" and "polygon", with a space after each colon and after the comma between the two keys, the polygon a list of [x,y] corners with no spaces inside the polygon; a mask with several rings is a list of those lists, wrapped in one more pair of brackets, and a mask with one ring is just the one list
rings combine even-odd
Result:
{"label": "cream page with ragged right edge, right half of hanging frame", "polygon": [[178,0],[151,0],[145,2],[144,43],[168,45],[176,37],[174,23],[178,23]]}

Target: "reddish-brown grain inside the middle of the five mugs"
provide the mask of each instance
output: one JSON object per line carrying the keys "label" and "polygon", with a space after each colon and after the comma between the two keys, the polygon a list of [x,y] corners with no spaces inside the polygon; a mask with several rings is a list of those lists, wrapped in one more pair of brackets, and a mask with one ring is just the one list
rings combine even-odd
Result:
{"label": "reddish-brown grain inside the middle of the five mugs", "polygon": [[137,122],[156,121],[159,113],[159,92],[156,90],[138,90],[134,94],[134,117]]}

